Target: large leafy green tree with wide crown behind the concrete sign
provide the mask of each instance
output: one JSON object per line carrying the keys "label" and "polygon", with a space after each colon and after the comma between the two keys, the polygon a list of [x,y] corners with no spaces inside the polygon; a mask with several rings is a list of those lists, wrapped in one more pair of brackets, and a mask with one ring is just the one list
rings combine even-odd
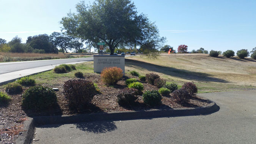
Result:
{"label": "large leafy green tree with wide crown behind the concrete sign", "polygon": [[105,42],[111,55],[118,45],[148,45],[159,48],[160,38],[156,25],[138,14],[130,0],[96,0],[92,5],[80,2],[77,13],[63,17],[63,30],[83,40]]}

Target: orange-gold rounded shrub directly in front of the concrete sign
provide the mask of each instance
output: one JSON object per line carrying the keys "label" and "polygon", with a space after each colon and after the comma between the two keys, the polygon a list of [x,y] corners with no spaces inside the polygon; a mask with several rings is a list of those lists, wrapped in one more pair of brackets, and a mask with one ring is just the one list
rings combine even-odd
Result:
{"label": "orange-gold rounded shrub directly in front of the concrete sign", "polygon": [[101,79],[107,85],[116,84],[123,77],[123,70],[119,67],[105,67],[101,71]]}

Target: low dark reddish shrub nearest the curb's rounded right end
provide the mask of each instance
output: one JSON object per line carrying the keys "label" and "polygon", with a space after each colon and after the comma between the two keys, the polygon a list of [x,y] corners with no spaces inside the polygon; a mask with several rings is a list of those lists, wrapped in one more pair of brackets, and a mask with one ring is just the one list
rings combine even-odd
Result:
{"label": "low dark reddish shrub nearest the curb's rounded right end", "polygon": [[191,95],[185,89],[176,89],[173,92],[173,98],[176,99],[177,102],[188,103],[190,101]]}

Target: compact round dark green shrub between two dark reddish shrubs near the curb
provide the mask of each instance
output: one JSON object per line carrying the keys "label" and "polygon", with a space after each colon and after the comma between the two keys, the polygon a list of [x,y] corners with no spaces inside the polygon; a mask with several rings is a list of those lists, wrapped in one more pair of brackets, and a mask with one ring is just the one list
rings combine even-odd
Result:
{"label": "compact round dark green shrub between two dark reddish shrubs near the curb", "polygon": [[146,91],[142,95],[143,102],[150,105],[155,106],[161,103],[162,96],[158,91]]}

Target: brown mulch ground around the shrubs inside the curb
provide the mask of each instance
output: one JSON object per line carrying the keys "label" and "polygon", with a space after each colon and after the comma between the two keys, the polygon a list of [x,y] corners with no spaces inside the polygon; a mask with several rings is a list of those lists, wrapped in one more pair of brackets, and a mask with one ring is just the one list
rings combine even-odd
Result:
{"label": "brown mulch ground around the shrubs inside the curb", "polygon": [[[14,140],[22,135],[23,125],[22,123],[26,120],[27,116],[42,116],[42,115],[74,115],[79,113],[97,113],[97,112],[110,112],[110,111],[129,111],[129,110],[148,110],[151,108],[195,108],[200,106],[206,106],[209,104],[209,100],[204,100],[200,97],[194,97],[189,103],[176,103],[172,96],[163,97],[162,105],[149,107],[143,103],[142,96],[137,95],[138,99],[134,105],[120,106],[117,103],[117,95],[121,89],[126,88],[125,80],[128,78],[138,77],[123,77],[122,80],[114,86],[106,86],[101,80],[99,74],[85,74],[85,79],[97,83],[101,93],[96,94],[92,100],[90,108],[84,111],[70,111],[68,103],[66,102],[63,95],[63,84],[67,81],[67,78],[59,80],[55,85],[44,85],[54,88],[59,88],[56,92],[58,106],[54,110],[44,112],[33,112],[29,110],[23,110],[21,107],[22,94],[11,95],[11,102],[8,105],[0,106],[0,144],[11,144]],[[143,83],[143,82],[142,82]],[[158,90],[157,87],[148,83],[143,83],[144,91],[146,90]],[[27,88],[24,88],[27,89]],[[0,89],[4,91],[4,89]]]}

